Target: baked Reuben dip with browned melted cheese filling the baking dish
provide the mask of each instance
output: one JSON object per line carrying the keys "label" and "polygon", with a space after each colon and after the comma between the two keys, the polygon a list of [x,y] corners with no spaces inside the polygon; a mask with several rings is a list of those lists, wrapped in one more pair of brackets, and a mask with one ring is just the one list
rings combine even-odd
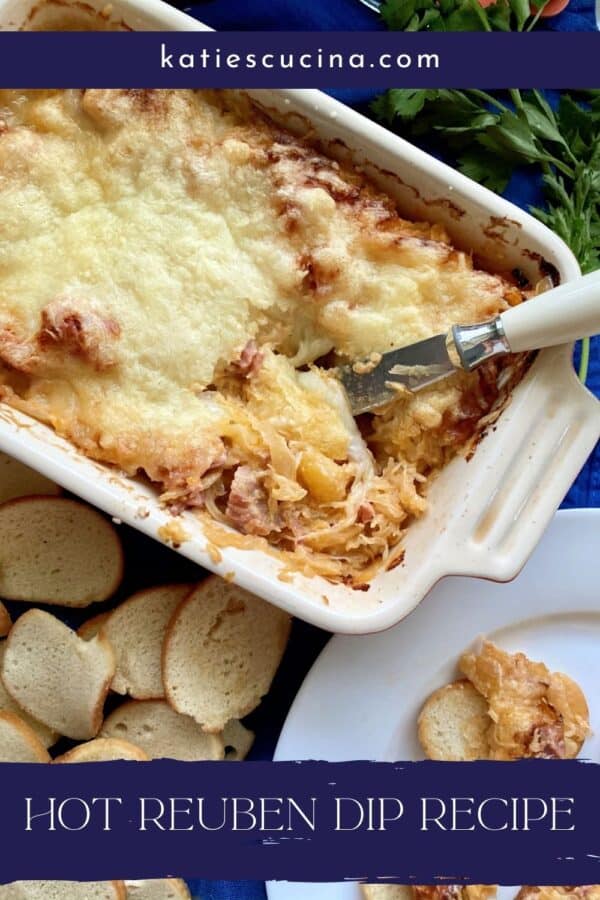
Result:
{"label": "baked Reuben dip with browned melted cheese filling the baking dish", "polygon": [[361,426],[322,370],[520,293],[228,92],[0,92],[3,398],[87,454],[362,585],[495,370]]}

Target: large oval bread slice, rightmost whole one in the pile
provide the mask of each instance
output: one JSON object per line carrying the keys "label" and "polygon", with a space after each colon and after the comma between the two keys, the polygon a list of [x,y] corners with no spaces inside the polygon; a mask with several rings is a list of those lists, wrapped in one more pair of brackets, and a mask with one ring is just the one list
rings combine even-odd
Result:
{"label": "large oval bread slice, rightmost whole one in the pile", "polygon": [[222,731],[258,706],[290,633],[287,613],[212,576],[173,616],[163,647],[163,682],[174,709],[205,731]]}

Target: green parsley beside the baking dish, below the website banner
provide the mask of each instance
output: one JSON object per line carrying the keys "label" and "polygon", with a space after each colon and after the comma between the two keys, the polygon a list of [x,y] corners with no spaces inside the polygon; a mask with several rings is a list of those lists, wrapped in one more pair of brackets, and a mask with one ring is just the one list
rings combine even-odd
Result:
{"label": "green parsley beside the baking dish, below the website banner", "polygon": [[[583,272],[600,268],[600,91],[564,92],[556,109],[540,91],[390,90],[375,116],[403,135],[440,141],[461,172],[497,193],[515,169],[542,179],[531,212],[569,245]],[[585,380],[589,342],[580,377]]]}

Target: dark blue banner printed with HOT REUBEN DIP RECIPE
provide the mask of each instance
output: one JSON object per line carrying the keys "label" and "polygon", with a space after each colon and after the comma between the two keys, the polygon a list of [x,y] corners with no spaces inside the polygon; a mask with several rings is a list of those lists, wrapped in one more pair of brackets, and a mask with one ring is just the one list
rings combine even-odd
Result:
{"label": "dark blue banner printed with HOT REUBEN DIP RECIPE", "polygon": [[600,881],[591,763],[163,760],[0,775],[4,882]]}

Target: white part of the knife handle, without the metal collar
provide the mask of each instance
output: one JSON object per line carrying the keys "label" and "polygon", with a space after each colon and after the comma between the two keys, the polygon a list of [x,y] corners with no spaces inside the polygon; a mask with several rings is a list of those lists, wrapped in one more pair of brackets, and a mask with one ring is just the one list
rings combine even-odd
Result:
{"label": "white part of the knife handle, without the metal collar", "polygon": [[513,353],[568,344],[600,332],[600,271],[568,281],[500,315]]}

